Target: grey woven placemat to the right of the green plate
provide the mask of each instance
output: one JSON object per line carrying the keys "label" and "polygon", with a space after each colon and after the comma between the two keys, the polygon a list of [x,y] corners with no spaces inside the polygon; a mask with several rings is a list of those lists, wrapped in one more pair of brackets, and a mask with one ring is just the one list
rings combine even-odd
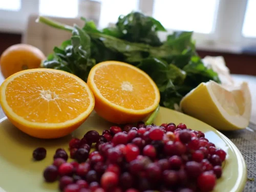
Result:
{"label": "grey woven placemat to the right of the green plate", "polygon": [[256,125],[250,124],[244,130],[222,133],[238,147],[245,159],[248,181],[244,192],[256,192]]}

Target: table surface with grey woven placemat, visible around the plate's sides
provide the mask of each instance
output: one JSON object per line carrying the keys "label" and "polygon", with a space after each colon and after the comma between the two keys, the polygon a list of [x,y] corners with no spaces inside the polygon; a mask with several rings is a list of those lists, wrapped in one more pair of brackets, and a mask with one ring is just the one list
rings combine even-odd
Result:
{"label": "table surface with grey woven placemat, visible around the plate's sides", "polygon": [[[232,75],[237,82],[247,81],[252,97],[251,123],[244,130],[222,132],[226,135],[240,150],[247,164],[248,178],[256,178],[256,76]],[[3,76],[0,76],[0,84],[3,82]],[[5,114],[0,107],[0,119]],[[256,180],[248,180],[244,192],[256,192]]]}

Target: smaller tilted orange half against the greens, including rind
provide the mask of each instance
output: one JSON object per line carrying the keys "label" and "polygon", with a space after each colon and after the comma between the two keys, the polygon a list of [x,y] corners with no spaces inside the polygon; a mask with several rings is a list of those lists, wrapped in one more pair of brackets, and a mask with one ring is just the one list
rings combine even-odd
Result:
{"label": "smaller tilted orange half against the greens, including rind", "polygon": [[133,123],[150,115],[158,106],[160,93],[142,70],[119,61],[94,66],[88,86],[95,97],[99,116],[113,123]]}

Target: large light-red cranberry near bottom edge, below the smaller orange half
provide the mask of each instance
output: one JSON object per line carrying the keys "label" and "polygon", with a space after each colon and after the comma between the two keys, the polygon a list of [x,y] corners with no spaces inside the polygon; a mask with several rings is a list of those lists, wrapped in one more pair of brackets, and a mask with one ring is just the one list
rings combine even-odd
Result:
{"label": "large light-red cranberry near bottom edge, below the smaller orange half", "polygon": [[113,172],[105,172],[100,180],[100,184],[105,189],[110,189],[118,184],[118,176]]}

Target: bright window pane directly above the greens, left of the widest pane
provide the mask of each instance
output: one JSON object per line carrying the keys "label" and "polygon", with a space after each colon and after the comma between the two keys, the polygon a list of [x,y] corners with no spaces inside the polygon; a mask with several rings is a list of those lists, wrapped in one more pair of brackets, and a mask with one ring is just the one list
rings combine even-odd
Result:
{"label": "bright window pane directly above the greens, left of the widest pane", "polygon": [[138,10],[138,0],[102,0],[100,11],[101,28],[117,22],[118,16]]}

